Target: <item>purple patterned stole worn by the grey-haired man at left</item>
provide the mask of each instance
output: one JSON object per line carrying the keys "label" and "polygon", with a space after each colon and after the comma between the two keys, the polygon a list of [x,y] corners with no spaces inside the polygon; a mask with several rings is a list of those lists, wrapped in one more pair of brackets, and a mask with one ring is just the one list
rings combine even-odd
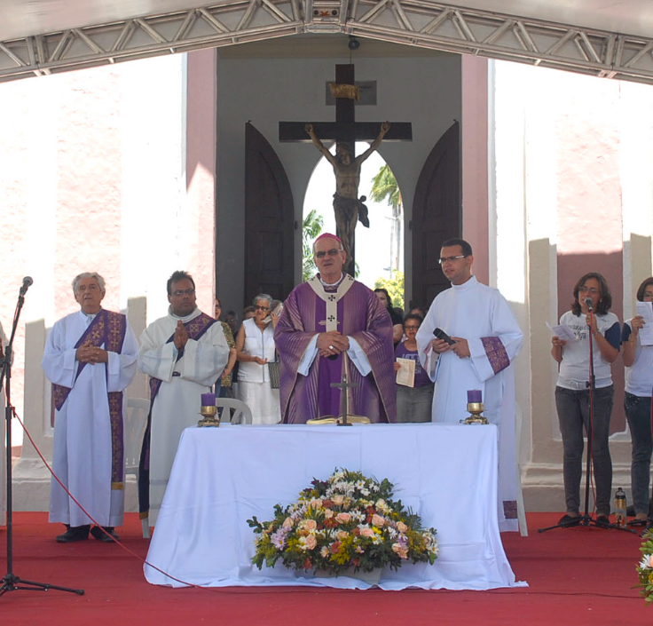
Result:
{"label": "purple patterned stole worn by the grey-haired man at left", "polygon": [[[120,354],[122,343],[127,331],[127,318],[122,313],[114,313],[100,309],[99,313],[90,322],[82,337],[77,340],[75,350],[81,345],[90,343],[95,348],[102,345],[110,353]],[[75,382],[88,363],[78,362]],[[98,364],[96,364],[97,367]],[[105,364],[106,373],[106,364]],[[108,376],[108,375],[107,375]],[[75,383],[73,383],[75,384]],[[52,395],[54,397],[54,406],[58,411],[66,403],[68,394],[72,391],[71,387],[65,387],[62,384],[52,384]],[[122,437],[122,392],[106,392],[109,403],[109,421],[111,423],[111,488],[122,489],[122,471],[124,466],[124,444]]]}

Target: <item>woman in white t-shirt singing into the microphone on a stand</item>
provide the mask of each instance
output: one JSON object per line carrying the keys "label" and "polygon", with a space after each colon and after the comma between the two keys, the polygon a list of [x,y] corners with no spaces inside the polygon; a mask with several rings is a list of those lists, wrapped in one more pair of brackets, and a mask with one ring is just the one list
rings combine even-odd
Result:
{"label": "woman in white t-shirt singing into the microphone on a stand", "polygon": [[[594,313],[590,313],[591,310]],[[586,273],[574,287],[571,310],[563,313],[561,326],[570,327],[574,341],[552,337],[551,355],[560,363],[555,386],[555,407],[563,435],[563,479],[567,512],[563,526],[578,523],[580,479],[583,468],[583,426],[587,429],[589,410],[589,342],[594,349],[594,420],[592,460],[596,481],[596,521],[610,523],[612,460],[608,437],[612,414],[612,373],[610,363],[619,354],[620,332],[617,315],[609,313],[612,297],[600,273]]]}

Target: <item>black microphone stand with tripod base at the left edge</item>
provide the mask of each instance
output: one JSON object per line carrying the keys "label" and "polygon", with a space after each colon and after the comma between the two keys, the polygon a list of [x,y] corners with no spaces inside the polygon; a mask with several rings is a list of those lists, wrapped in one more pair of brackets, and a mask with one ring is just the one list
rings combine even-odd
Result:
{"label": "black microphone stand with tripod base at the left edge", "polygon": [[[31,283],[30,283],[31,284]],[[34,582],[26,581],[19,578],[13,573],[13,511],[12,511],[12,416],[13,407],[11,401],[11,388],[10,383],[12,379],[12,357],[13,357],[13,338],[16,335],[18,321],[20,318],[20,311],[25,302],[25,292],[28,290],[29,285],[23,283],[23,288],[20,289],[18,303],[16,304],[16,311],[13,313],[12,336],[9,339],[9,345],[4,352],[4,360],[2,361],[2,374],[0,375],[0,390],[2,390],[4,383],[4,396],[6,398],[6,406],[4,409],[4,418],[6,421],[6,441],[7,441],[7,573],[4,574],[2,584],[0,584],[0,596],[4,595],[7,591],[28,590],[28,591],[47,591],[55,589],[58,591],[68,591],[69,593],[76,593],[78,596],[83,596],[83,589],[68,589],[67,587],[58,587],[57,585],[50,584],[49,582]]]}

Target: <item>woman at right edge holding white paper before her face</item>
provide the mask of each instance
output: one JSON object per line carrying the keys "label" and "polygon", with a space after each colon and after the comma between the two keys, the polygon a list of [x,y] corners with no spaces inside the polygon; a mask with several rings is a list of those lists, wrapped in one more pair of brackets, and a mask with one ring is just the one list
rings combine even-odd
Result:
{"label": "woman at right edge holding white paper before her face", "polygon": [[[653,276],[641,283],[637,289],[637,300],[653,302]],[[637,308],[640,308],[639,304]],[[645,345],[649,343],[645,339],[642,343],[640,331],[644,325],[644,318],[635,315],[632,320],[625,321],[621,333],[625,365],[625,418],[633,442],[630,479],[635,509],[634,526],[646,525],[649,518],[650,456],[653,453],[650,406],[653,345]]]}

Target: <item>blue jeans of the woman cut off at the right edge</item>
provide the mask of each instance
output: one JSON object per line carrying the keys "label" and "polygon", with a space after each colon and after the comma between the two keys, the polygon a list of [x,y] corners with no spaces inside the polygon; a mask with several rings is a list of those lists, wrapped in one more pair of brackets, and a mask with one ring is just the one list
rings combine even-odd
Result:
{"label": "blue jeans of the woman cut off at the right edge", "polygon": [[650,398],[625,392],[625,418],[633,440],[630,481],[633,490],[635,513],[649,512],[650,456],[653,452],[651,438]]}

